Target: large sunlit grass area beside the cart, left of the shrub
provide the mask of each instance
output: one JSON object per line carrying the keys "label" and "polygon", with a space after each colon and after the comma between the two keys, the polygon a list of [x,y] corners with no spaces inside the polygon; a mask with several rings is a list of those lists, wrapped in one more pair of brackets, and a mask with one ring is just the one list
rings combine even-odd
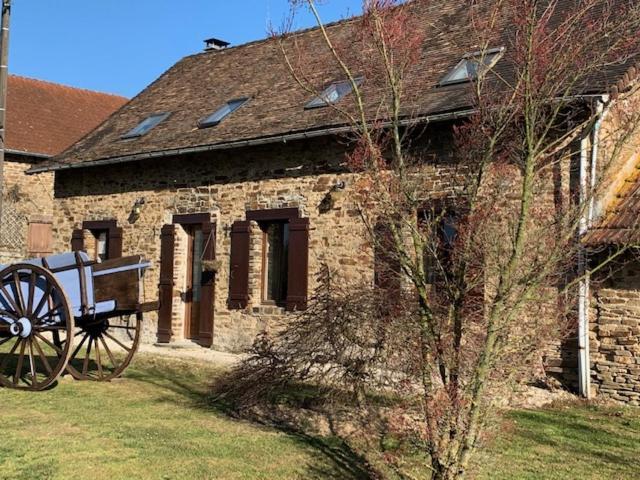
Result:
{"label": "large sunlit grass area beside the cart, left of the shrub", "polygon": [[111,383],[64,379],[45,392],[0,389],[0,479],[349,479],[337,442],[225,416],[207,402],[216,371],[139,355]]}

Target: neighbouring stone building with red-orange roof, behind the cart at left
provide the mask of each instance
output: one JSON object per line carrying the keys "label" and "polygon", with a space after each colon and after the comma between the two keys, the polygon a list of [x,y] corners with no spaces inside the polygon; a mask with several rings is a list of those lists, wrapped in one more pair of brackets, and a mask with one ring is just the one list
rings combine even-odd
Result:
{"label": "neighbouring stone building with red-orange roof, behind the cart at left", "polygon": [[61,153],[126,101],[9,76],[0,263],[52,252],[53,173],[25,172]]}

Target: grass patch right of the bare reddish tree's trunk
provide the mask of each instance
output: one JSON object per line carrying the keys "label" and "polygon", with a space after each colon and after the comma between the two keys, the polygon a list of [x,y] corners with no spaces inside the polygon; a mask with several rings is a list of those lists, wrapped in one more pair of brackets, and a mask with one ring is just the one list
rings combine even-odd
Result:
{"label": "grass patch right of the bare reddish tree's trunk", "polygon": [[561,404],[513,411],[475,463],[482,480],[635,480],[640,409]]}

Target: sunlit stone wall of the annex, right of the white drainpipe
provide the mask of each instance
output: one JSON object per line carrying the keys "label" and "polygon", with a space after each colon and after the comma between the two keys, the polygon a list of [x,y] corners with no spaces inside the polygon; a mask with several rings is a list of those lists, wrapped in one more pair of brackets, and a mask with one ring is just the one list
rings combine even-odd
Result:
{"label": "sunlit stone wall of the annex, right of the white drainpipe", "polygon": [[595,289],[591,309],[591,378],[598,395],[640,405],[640,263]]}

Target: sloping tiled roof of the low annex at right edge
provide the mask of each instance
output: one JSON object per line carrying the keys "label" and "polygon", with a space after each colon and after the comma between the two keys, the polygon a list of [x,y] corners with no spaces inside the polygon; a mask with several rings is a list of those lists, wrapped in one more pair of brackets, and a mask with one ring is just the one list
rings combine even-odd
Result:
{"label": "sloping tiled roof of the low annex at right edge", "polygon": [[583,241],[590,246],[640,244],[640,165]]}

